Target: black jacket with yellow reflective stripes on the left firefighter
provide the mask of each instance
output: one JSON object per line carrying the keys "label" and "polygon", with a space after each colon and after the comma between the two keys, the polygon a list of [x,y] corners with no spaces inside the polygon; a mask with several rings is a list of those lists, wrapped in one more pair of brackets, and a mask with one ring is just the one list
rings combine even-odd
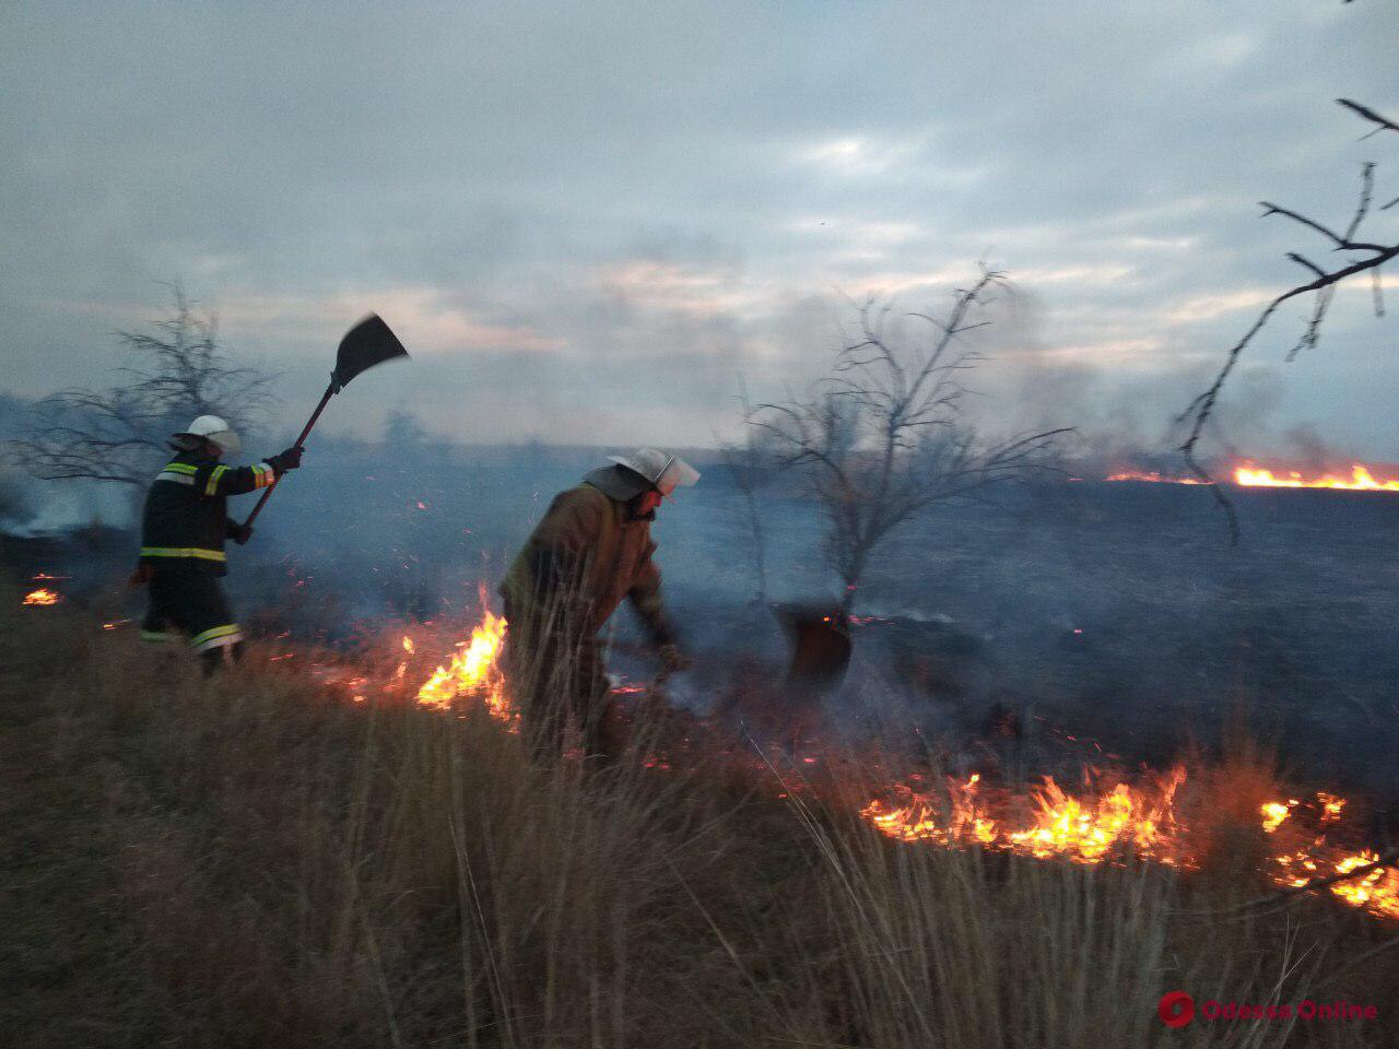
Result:
{"label": "black jacket with yellow reflective stripes on the left firefighter", "polygon": [[228,497],[266,488],[277,476],[267,462],[224,466],[194,452],[178,453],[145,495],[141,564],[225,575],[224,540],[236,527],[228,518]]}

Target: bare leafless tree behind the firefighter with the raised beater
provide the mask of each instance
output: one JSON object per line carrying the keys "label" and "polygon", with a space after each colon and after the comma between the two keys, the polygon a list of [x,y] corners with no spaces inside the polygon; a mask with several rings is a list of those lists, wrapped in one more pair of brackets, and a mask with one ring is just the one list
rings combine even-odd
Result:
{"label": "bare leafless tree behind the firefighter with the raised beater", "polygon": [[66,389],[39,403],[28,435],[11,456],[41,480],[95,480],[144,485],[166,438],[197,415],[221,415],[246,428],[271,399],[274,376],[238,368],[218,344],[211,313],[196,309],[179,285],[173,313],[148,331],[118,331],[139,362],[118,369],[106,390]]}

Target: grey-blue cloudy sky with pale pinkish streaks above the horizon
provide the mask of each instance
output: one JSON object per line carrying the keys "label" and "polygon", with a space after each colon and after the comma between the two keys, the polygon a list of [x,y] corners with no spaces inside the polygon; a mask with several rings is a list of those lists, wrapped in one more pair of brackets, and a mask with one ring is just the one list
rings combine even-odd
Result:
{"label": "grey-blue cloudy sky with pale pinkish streaks above the horizon", "polygon": [[[846,298],[936,308],[985,259],[983,410],[1151,446],[1284,252],[1326,255],[1258,201],[1343,225],[1364,159],[1399,194],[1399,136],[1333,102],[1399,113],[1396,43],[1388,0],[11,3],[0,389],[106,382],[178,280],[287,427],[374,309],[416,361],[327,429],[709,443]],[[1302,313],[1227,436],[1399,460],[1393,315],[1357,285],[1283,364]]]}

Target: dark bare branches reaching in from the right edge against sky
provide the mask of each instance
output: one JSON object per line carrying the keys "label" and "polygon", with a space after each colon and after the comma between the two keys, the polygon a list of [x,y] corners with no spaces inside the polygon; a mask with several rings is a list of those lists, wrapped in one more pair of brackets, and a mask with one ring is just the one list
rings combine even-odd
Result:
{"label": "dark bare branches reaching in from the right edge against sky", "polygon": [[[1382,131],[1399,131],[1399,124],[1393,120],[1381,116],[1375,110],[1363,106],[1358,102],[1353,102],[1349,98],[1337,98],[1336,102],[1374,124],[1370,133],[1364,136],[1365,138]],[[1370,274],[1375,316],[1385,315],[1384,285],[1379,281],[1379,269],[1391,259],[1399,256],[1399,243],[1382,243],[1361,239],[1360,228],[1365,220],[1371,217],[1374,190],[1375,164],[1374,161],[1367,161],[1360,171],[1360,199],[1356,203],[1356,210],[1351,214],[1344,232],[1336,232],[1335,228],[1319,222],[1315,218],[1293,211],[1291,208],[1279,207],[1277,204],[1272,204],[1266,200],[1260,204],[1263,208],[1263,218],[1281,215],[1283,218],[1290,218],[1294,222],[1298,222],[1328,241],[1332,252],[1342,253],[1343,262],[1329,266],[1318,266],[1315,262],[1298,252],[1288,252],[1287,257],[1307,270],[1311,274],[1311,280],[1302,281],[1301,284],[1283,291],[1272,302],[1263,306],[1262,312],[1259,312],[1258,317],[1255,317],[1242,338],[1234,343],[1234,345],[1231,345],[1228,352],[1224,355],[1224,364],[1214,375],[1214,380],[1210,383],[1209,389],[1192,400],[1189,407],[1181,413],[1177,420],[1178,422],[1184,422],[1186,425],[1186,438],[1185,443],[1181,445],[1181,453],[1185,456],[1185,462],[1189,464],[1191,470],[1202,481],[1212,485],[1214,498],[1219,501],[1228,518],[1230,537],[1234,543],[1238,541],[1240,536],[1238,518],[1234,513],[1234,504],[1230,502],[1228,495],[1219,484],[1214,483],[1214,478],[1203,466],[1200,466],[1195,456],[1196,446],[1200,442],[1200,435],[1205,432],[1205,425],[1214,414],[1220,392],[1228,382],[1228,378],[1233,373],[1234,366],[1238,364],[1244,350],[1254,341],[1254,337],[1263,330],[1273,313],[1277,312],[1277,308],[1288,299],[1294,299],[1300,295],[1315,295],[1312,299],[1311,315],[1307,317],[1301,337],[1287,352],[1288,361],[1297,357],[1297,354],[1302,350],[1312,350],[1316,345],[1321,340],[1322,322],[1326,319],[1326,311],[1330,309],[1336,288],[1351,277],[1357,277],[1363,273]],[[1379,210],[1385,211],[1396,204],[1399,204],[1399,197],[1395,197],[1386,204],[1381,204]]]}

